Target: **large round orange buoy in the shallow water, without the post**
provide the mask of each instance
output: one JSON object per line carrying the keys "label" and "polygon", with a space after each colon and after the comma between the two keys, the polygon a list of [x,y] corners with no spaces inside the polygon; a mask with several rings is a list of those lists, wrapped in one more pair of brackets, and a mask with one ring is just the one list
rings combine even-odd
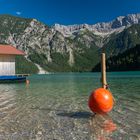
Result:
{"label": "large round orange buoy in the shallow water, without the post", "polygon": [[104,88],[93,91],[89,97],[88,106],[94,113],[107,113],[112,110],[114,104],[112,94]]}

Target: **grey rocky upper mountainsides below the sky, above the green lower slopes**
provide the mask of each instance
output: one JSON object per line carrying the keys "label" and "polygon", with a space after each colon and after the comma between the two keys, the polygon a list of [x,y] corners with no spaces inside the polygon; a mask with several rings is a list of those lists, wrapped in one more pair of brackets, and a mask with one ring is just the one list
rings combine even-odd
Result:
{"label": "grey rocky upper mountainsides below the sky, above the green lower slopes", "polygon": [[[140,14],[117,17],[111,22],[94,25],[60,25],[52,27],[36,19],[0,16],[0,43],[11,44],[25,51],[26,57],[34,52],[43,54],[46,63],[53,62],[52,54],[67,54],[67,63],[75,63],[74,53],[85,48],[102,48],[110,40],[112,33],[118,34],[131,25],[140,23]],[[85,46],[85,47],[82,47]]]}

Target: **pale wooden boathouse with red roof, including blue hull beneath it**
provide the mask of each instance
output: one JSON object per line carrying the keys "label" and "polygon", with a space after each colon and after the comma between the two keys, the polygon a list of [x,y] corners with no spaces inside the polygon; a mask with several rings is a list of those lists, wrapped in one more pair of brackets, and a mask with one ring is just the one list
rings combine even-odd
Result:
{"label": "pale wooden boathouse with red roof, including blue hull beneath it", "polygon": [[17,55],[25,54],[11,45],[0,45],[0,83],[19,83],[26,81],[28,75],[16,75],[15,57]]}

